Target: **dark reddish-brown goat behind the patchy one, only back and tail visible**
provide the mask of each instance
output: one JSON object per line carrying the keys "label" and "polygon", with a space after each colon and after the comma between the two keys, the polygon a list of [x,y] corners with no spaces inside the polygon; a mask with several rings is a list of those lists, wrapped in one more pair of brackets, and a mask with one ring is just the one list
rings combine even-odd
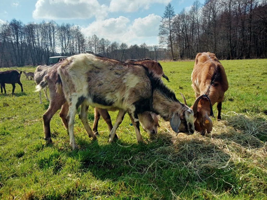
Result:
{"label": "dark reddish-brown goat behind the patchy one, only back and tail visible", "polygon": [[153,71],[155,76],[163,77],[168,82],[170,82],[169,78],[164,74],[162,66],[160,65],[158,61],[152,60],[150,58],[144,58],[144,59],[139,59],[139,60],[127,60],[125,61],[125,63],[143,65],[147,67],[148,70]]}

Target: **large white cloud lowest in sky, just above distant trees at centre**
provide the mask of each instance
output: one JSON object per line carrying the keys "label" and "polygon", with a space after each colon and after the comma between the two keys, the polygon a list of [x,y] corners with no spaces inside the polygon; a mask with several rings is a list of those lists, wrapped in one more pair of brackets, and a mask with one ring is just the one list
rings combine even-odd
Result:
{"label": "large white cloud lowest in sky, just above distant trees at centre", "polygon": [[96,34],[99,38],[109,39],[110,41],[125,42],[128,45],[155,44],[158,42],[157,35],[159,31],[161,17],[150,14],[144,18],[138,18],[130,23],[126,17],[110,18],[105,20],[96,20],[88,27],[83,27],[81,31],[92,36]]}

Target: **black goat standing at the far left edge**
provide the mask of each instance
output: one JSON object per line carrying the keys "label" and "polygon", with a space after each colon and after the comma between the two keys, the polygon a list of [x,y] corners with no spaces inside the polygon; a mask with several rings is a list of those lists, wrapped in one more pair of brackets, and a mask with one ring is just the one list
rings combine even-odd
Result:
{"label": "black goat standing at the far left edge", "polygon": [[17,70],[8,70],[8,71],[1,71],[0,72],[0,87],[1,87],[1,93],[3,93],[3,88],[6,94],[6,86],[5,83],[9,83],[12,85],[12,94],[14,94],[15,91],[15,83],[18,83],[21,87],[21,92],[23,92],[22,84],[20,82],[20,76],[22,72],[18,72]]}

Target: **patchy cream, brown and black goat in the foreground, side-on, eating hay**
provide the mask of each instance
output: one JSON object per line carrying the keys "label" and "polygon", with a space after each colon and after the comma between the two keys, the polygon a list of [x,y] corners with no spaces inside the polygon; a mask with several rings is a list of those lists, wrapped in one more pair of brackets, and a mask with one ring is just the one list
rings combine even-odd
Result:
{"label": "patchy cream, brown and black goat in the foreground, side-on, eating hay", "polygon": [[[92,54],[73,55],[58,68],[57,88],[63,89],[69,103],[70,145],[76,149],[73,135],[74,117],[80,105],[119,109],[116,122],[109,134],[112,142],[115,132],[128,112],[138,142],[144,142],[139,129],[138,114],[152,111],[170,121],[178,133],[194,133],[193,110],[180,103],[161,79],[154,77],[144,66],[133,65]],[[86,109],[85,109],[86,110]],[[87,116],[87,115],[86,115]]]}

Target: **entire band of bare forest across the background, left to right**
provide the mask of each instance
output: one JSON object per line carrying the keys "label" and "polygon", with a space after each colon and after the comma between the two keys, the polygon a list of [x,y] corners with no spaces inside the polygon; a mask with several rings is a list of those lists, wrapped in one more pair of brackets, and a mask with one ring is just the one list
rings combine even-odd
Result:
{"label": "entire band of bare forest across the background, left to right", "polygon": [[0,67],[49,64],[52,56],[95,53],[117,60],[194,59],[210,51],[219,59],[267,57],[267,1],[194,1],[174,12],[169,3],[159,27],[159,45],[127,45],[97,35],[86,37],[78,25],[54,21],[0,24]]}

